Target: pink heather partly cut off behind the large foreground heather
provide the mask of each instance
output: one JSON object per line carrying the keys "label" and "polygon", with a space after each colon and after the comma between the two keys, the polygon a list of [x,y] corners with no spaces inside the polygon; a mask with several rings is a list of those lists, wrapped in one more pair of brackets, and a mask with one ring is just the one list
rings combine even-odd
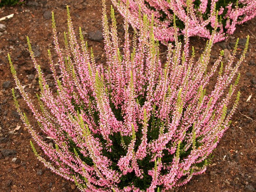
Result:
{"label": "pink heather partly cut off behind the large foreground heather", "polygon": [[[217,22],[214,43],[223,41],[240,25],[256,15],[256,0],[112,0],[118,11],[137,29],[143,25],[139,12],[148,17],[154,14],[154,35],[164,44],[174,41],[173,16],[177,17],[178,35],[185,33],[210,39]],[[187,11],[189,10],[189,11]],[[214,14],[215,10],[218,15]],[[190,25],[185,31],[185,22]]]}

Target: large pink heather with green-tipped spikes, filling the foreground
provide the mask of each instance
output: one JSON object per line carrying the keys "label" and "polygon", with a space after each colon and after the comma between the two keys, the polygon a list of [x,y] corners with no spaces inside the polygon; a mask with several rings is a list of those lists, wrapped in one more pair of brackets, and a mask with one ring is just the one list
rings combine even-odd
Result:
{"label": "large pink heather with green-tipped spikes, filling the foreground", "polygon": [[[36,103],[24,90],[8,55],[20,94],[41,131],[54,142],[46,142],[29,123],[13,89],[15,106],[46,158],[31,141],[35,155],[54,173],[75,182],[80,191],[154,192],[184,185],[206,170],[212,150],[238,105],[239,92],[234,104],[230,102],[248,40],[236,64],[238,41],[226,67],[222,51],[207,70],[216,27],[204,52],[195,60],[194,49],[192,54],[189,51],[189,26],[185,27],[182,46],[174,22],[175,44],[168,45],[167,59],[162,63],[153,22],[146,15],[140,17],[143,25],[139,32],[135,30],[132,41],[128,20],[124,20],[121,51],[113,8],[109,26],[103,2],[106,59],[97,63],[81,28],[78,42],[69,11],[65,50],[60,48],[52,14],[57,61],[50,50],[48,55],[57,91],[48,86],[27,38],[41,89]],[[216,73],[215,85],[210,89],[209,80]]]}

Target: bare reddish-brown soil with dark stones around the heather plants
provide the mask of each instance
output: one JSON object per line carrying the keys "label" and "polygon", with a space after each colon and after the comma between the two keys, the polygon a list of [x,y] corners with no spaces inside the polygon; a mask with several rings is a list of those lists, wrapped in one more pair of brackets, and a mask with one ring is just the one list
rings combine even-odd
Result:
{"label": "bare reddish-brown soil with dark stones around the heather plants", "polygon": [[[110,7],[110,1],[107,1]],[[29,0],[27,4],[15,7],[4,7],[0,9],[0,18],[10,14],[14,17],[1,21],[6,25],[6,32],[0,36],[0,151],[10,149],[16,154],[8,155],[0,153],[0,191],[1,192],[77,192],[75,184],[60,176],[57,176],[46,169],[39,162],[31,150],[29,141],[30,134],[24,128],[16,113],[11,89],[15,83],[10,73],[7,61],[7,53],[12,56],[18,76],[26,90],[32,96],[38,92],[33,63],[29,58],[26,45],[26,35],[30,37],[33,49],[36,50],[38,63],[42,66],[45,74],[49,74],[47,60],[47,49],[51,49],[52,32],[49,15],[46,11],[54,11],[56,16],[57,29],[66,30],[65,5],[70,5],[73,24],[79,26],[85,32],[84,35],[93,47],[98,62],[103,58],[103,41],[90,40],[90,31],[102,29],[101,25],[101,0]],[[121,15],[117,14],[118,23],[121,25]],[[122,28],[119,28],[122,29]],[[123,33],[122,30],[119,31]],[[185,186],[176,188],[175,191],[184,192],[234,192],[234,191],[255,191],[256,189],[256,18],[238,26],[236,32],[225,42],[215,44],[212,51],[212,60],[216,58],[222,49],[232,49],[236,38],[241,39],[238,48],[244,48],[245,37],[251,36],[249,51],[246,60],[240,67],[241,80],[239,90],[241,91],[240,104],[236,114],[233,116],[233,123],[225,136],[221,139],[217,149],[214,151],[214,158],[207,171],[194,176]],[[253,34],[254,33],[254,34]],[[60,36],[63,36],[60,34]],[[236,37],[236,38],[235,38]],[[191,45],[199,54],[204,48],[206,41],[200,38],[192,38]],[[231,48],[230,48],[231,47]],[[161,48],[164,50],[164,46]],[[241,51],[240,51],[241,52]],[[52,82],[51,77],[49,76]],[[8,86],[8,82],[11,84]],[[8,88],[4,88],[8,87]],[[54,87],[52,87],[54,89]],[[246,102],[249,95],[252,97]],[[21,98],[19,102],[22,108],[26,108]],[[26,113],[29,110],[25,109]],[[30,118],[31,119],[31,118]],[[35,122],[31,122],[35,125]],[[17,126],[21,126],[20,128]],[[15,128],[19,128],[13,131]],[[13,131],[13,132],[12,132]],[[11,151],[11,152],[15,152]],[[16,158],[16,161],[15,161]],[[14,162],[15,161],[15,162]]]}

